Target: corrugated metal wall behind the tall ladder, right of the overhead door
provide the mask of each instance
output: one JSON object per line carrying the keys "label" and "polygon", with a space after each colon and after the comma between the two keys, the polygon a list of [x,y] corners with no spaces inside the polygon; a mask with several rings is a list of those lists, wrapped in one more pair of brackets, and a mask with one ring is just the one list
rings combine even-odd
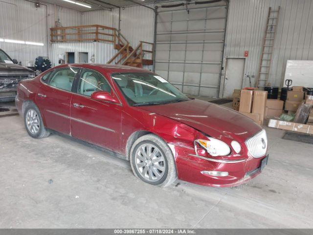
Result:
{"label": "corrugated metal wall behind the tall ladder, right of the overhead door", "polygon": [[230,0],[224,56],[243,57],[249,51],[243,86],[249,86],[247,75],[257,78],[268,7],[276,10],[278,6],[269,82],[282,85],[287,60],[313,60],[312,0]]}

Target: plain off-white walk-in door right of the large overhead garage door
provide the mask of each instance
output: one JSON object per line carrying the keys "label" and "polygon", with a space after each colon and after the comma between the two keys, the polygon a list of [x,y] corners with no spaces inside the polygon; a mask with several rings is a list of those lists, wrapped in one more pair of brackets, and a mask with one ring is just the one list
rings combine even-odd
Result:
{"label": "plain off-white walk-in door right of the large overhead garage door", "polygon": [[242,89],[245,59],[227,58],[223,98],[232,97],[234,89]]}

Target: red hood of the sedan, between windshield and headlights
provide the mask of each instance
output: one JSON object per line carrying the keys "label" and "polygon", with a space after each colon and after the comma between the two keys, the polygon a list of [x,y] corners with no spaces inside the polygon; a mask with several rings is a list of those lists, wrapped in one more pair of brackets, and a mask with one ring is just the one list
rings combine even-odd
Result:
{"label": "red hood of the sedan, between windshield and headlights", "polygon": [[243,142],[262,130],[237,111],[199,99],[138,108],[175,119],[215,138],[226,136]]}

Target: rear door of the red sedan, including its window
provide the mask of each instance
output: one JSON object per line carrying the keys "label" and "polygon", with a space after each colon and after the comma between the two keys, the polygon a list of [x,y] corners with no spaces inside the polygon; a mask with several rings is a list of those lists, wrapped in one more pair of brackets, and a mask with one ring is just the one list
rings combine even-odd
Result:
{"label": "rear door of the red sedan, including its window", "polygon": [[70,134],[69,106],[72,84],[79,68],[56,69],[48,77],[41,78],[36,103],[44,118],[45,127],[64,134]]}

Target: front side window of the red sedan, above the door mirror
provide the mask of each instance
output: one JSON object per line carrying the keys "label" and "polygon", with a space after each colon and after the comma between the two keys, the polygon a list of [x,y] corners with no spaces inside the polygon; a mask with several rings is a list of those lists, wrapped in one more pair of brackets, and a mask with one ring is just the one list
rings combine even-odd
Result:
{"label": "front side window of the red sedan, above the door mirror", "polygon": [[80,73],[77,93],[90,96],[94,92],[111,93],[111,87],[104,76],[96,71],[84,69]]}

